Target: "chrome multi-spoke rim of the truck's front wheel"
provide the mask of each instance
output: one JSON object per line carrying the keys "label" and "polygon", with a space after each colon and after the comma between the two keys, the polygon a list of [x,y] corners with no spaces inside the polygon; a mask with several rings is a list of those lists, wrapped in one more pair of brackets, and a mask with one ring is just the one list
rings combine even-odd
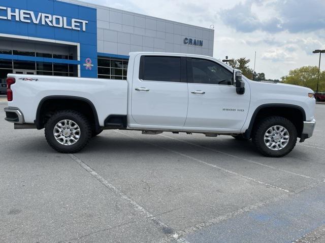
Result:
{"label": "chrome multi-spoke rim of the truck's front wheel", "polygon": [[271,150],[281,150],[288,145],[289,132],[282,126],[269,128],[264,135],[264,143]]}

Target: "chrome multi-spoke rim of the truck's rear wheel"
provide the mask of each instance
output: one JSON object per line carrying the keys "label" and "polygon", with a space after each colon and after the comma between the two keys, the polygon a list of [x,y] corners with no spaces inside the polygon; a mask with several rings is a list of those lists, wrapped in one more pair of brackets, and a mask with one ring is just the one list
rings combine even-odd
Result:
{"label": "chrome multi-spoke rim of the truck's rear wheel", "polygon": [[73,120],[60,120],[53,129],[55,140],[62,145],[69,146],[78,142],[80,128]]}

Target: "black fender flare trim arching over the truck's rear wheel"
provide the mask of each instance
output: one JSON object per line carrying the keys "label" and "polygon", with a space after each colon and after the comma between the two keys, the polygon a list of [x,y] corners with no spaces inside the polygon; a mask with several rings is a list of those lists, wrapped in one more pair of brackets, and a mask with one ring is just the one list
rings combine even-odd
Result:
{"label": "black fender flare trim arching over the truck's rear wheel", "polygon": [[98,119],[98,114],[97,114],[97,111],[96,111],[96,108],[95,106],[93,105],[93,103],[86,99],[86,98],[82,98],[82,97],[78,97],[78,96],[69,96],[69,95],[51,95],[51,96],[46,96],[44,97],[38,107],[37,107],[37,111],[36,111],[36,119],[34,121],[34,123],[36,124],[36,128],[38,130],[41,130],[43,129],[43,125],[41,123],[41,107],[43,106],[44,102],[47,101],[47,100],[51,100],[51,99],[70,99],[70,100],[79,100],[79,101],[84,101],[86,102],[88,105],[90,105],[91,107],[91,110],[94,114],[94,120],[95,120],[95,131],[96,132],[99,132],[101,130],[101,126],[99,124],[99,119]]}

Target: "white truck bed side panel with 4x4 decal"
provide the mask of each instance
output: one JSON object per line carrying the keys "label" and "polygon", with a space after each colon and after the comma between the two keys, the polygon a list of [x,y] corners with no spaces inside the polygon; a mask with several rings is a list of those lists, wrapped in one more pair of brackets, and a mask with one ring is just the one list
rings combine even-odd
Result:
{"label": "white truck bed side panel with 4x4 decal", "polygon": [[[100,78],[28,76],[38,81],[24,81],[27,75],[9,74],[16,78],[12,85],[14,100],[9,106],[19,107],[26,123],[34,123],[40,101],[48,96],[74,96],[91,101],[98,113],[100,126],[110,114],[126,114],[127,83],[125,80]],[[78,85],[76,85],[78,84]],[[28,91],[28,92],[26,92]]]}

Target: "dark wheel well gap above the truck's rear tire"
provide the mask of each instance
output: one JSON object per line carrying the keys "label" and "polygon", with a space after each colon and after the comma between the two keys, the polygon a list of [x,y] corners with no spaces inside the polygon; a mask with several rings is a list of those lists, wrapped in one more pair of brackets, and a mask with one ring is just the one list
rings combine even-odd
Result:
{"label": "dark wheel well gap above the truck's rear tire", "polygon": [[49,117],[58,110],[76,110],[88,118],[94,131],[100,130],[98,115],[93,104],[87,99],[78,97],[44,98],[37,109],[35,120],[37,129],[43,129]]}

